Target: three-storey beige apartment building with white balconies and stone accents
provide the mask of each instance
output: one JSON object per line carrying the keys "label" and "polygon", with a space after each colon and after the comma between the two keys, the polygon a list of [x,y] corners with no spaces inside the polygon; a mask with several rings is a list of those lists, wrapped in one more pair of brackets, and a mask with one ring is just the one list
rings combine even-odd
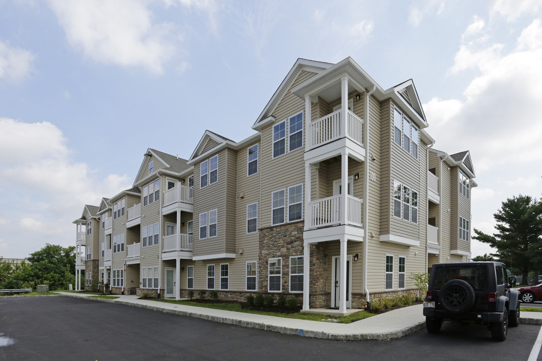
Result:
{"label": "three-storey beige apartment building with white balconies and stone accents", "polygon": [[427,128],[411,80],[384,90],[350,57],[298,59],[254,135],[207,130],[188,160],[147,149],[133,188],[96,211],[114,218],[100,280],[140,296],[284,294],[305,310],[414,292],[411,273],[470,258],[476,186],[470,154],[433,149]]}

